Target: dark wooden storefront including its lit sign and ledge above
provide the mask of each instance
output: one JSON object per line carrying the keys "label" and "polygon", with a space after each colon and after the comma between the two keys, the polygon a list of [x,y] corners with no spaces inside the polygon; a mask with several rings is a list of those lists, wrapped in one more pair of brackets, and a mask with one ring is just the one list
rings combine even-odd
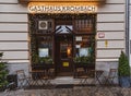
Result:
{"label": "dark wooden storefront including its lit sign and ledge above", "polygon": [[59,76],[95,69],[96,10],[105,0],[19,1],[28,3],[32,70],[38,64],[36,70],[55,69]]}

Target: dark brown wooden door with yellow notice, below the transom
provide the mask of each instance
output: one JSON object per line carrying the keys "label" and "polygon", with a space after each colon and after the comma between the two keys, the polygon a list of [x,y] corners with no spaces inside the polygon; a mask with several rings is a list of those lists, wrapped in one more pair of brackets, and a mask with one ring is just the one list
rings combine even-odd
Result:
{"label": "dark brown wooden door with yellow notice, below the transom", "polygon": [[55,41],[57,75],[73,75],[73,36],[70,34],[56,35]]}

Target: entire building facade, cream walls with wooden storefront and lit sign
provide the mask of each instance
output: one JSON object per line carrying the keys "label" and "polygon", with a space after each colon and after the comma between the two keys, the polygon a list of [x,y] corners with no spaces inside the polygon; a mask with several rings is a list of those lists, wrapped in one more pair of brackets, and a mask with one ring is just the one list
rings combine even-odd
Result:
{"label": "entire building facade, cream walls with wooden storefront and lit sign", "polygon": [[0,0],[0,51],[10,73],[51,63],[55,76],[73,76],[80,59],[109,71],[121,50],[126,0]]}

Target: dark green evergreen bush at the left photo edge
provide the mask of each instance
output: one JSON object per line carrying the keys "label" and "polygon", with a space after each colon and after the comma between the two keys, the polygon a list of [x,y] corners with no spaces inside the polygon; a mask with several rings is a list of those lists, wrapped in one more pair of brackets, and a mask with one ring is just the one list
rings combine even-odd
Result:
{"label": "dark green evergreen bush at the left photo edge", "polygon": [[3,52],[0,52],[0,91],[3,91],[8,84],[7,75],[9,73],[5,62],[2,59]]}

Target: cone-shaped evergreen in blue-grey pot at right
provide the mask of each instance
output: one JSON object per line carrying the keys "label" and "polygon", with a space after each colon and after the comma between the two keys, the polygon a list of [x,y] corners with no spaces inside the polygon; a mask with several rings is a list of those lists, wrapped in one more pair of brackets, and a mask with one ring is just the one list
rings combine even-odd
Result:
{"label": "cone-shaped evergreen in blue-grey pot at right", "polygon": [[121,51],[121,55],[119,57],[118,76],[121,87],[131,86],[129,59],[123,51]]}

